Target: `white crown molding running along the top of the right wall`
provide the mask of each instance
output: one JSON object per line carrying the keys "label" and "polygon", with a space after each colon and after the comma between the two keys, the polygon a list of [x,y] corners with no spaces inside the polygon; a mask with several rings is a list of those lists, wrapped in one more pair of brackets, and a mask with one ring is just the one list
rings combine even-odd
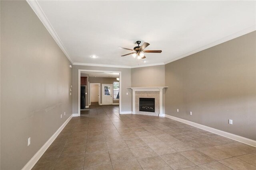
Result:
{"label": "white crown molding running along the top of the right wall", "polygon": [[219,40],[217,40],[217,41],[214,41],[213,43],[210,43],[210,44],[208,44],[208,45],[205,45],[204,47],[201,47],[201,48],[199,48],[199,49],[196,49],[196,50],[194,50],[194,51],[191,51],[191,52],[189,52],[189,53],[186,53],[186,54],[184,54],[184,55],[181,55],[181,56],[179,56],[179,57],[176,57],[176,58],[174,58],[174,59],[171,59],[171,60],[169,60],[169,61],[166,61],[166,62],[164,62],[164,64],[172,63],[173,61],[176,61],[176,60],[178,60],[178,59],[182,59],[182,58],[184,58],[184,57],[188,57],[189,55],[198,53],[198,52],[203,51],[203,50],[205,50],[205,49],[208,49],[208,48],[210,48],[210,47],[214,47],[214,46],[216,46],[216,45],[219,45],[219,44],[224,43],[224,42],[226,42],[226,41],[229,41],[229,40],[231,40],[231,39],[235,39],[235,38],[240,37],[240,36],[242,36],[242,35],[248,34],[248,33],[252,32],[252,31],[256,31],[256,25],[253,25],[253,26],[248,27],[248,28],[246,28],[246,29],[244,29],[244,30],[242,30],[242,31],[238,31],[238,32],[236,32],[236,33],[234,33],[234,34],[231,34],[231,35],[227,36],[227,37],[224,37],[224,38],[222,38],[222,39],[219,39]]}

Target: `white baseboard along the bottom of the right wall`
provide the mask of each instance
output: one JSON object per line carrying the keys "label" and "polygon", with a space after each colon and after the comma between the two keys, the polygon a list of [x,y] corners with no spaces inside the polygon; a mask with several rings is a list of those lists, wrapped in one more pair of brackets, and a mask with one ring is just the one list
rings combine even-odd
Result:
{"label": "white baseboard along the bottom of the right wall", "polygon": [[252,139],[248,139],[248,138],[245,138],[245,137],[241,137],[241,136],[238,136],[238,135],[234,135],[232,133],[228,133],[228,132],[225,132],[225,131],[221,131],[221,130],[218,130],[218,129],[214,129],[212,127],[208,127],[208,126],[205,126],[205,125],[201,125],[199,123],[195,123],[195,122],[192,122],[192,121],[188,121],[188,120],[185,120],[185,119],[181,119],[181,118],[178,118],[178,117],[174,117],[174,116],[171,116],[171,115],[165,115],[165,117],[168,117],[170,119],[173,119],[173,120],[176,120],[176,121],[180,121],[182,123],[186,123],[188,125],[191,125],[191,126],[194,126],[194,127],[198,127],[200,129],[203,129],[203,130],[206,130],[206,131],[209,131],[209,132],[212,132],[212,133],[215,133],[217,135],[220,135],[220,136],[223,136],[223,137],[227,137],[229,139],[233,139],[235,141],[238,141],[238,142],[241,142],[241,143],[244,143],[244,144],[247,144],[247,145],[250,145],[252,147],[256,147],[256,141],[252,140]]}

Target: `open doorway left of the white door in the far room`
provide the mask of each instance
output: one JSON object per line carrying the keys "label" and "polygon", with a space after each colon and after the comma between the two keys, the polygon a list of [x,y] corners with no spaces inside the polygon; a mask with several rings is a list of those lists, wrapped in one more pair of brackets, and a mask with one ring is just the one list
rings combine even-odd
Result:
{"label": "open doorway left of the white door in the far room", "polygon": [[89,100],[91,102],[98,102],[100,105],[100,83],[90,83],[90,93],[89,93]]}

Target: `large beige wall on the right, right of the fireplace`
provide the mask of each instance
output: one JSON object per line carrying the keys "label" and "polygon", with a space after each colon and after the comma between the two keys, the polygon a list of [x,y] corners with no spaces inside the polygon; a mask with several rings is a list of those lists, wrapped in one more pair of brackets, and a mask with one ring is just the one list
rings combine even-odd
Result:
{"label": "large beige wall on the right, right of the fireplace", "polygon": [[256,140],[256,31],[166,64],[165,75],[166,114]]}

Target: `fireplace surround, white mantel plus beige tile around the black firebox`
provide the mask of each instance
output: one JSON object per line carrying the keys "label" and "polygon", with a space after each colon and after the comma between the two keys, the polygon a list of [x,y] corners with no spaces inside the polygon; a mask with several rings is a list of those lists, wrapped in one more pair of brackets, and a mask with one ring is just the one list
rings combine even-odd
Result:
{"label": "fireplace surround, white mantel plus beige tile around the black firebox", "polygon": [[[132,89],[132,114],[164,117],[163,94],[168,87],[130,87]],[[155,98],[155,112],[139,111],[140,98]]]}

